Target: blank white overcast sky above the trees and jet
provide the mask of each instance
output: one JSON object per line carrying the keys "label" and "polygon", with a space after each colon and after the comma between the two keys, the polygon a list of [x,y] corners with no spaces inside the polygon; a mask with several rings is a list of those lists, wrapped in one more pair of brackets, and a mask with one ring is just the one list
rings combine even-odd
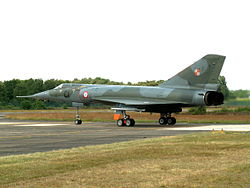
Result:
{"label": "blank white overcast sky above the trees and jet", "polygon": [[0,80],[166,80],[226,56],[230,89],[250,89],[248,0],[2,0]]}

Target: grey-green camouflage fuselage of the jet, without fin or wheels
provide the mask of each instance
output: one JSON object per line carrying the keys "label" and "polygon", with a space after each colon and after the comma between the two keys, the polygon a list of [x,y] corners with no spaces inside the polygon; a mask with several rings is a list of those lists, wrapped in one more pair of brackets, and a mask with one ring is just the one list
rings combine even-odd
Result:
{"label": "grey-green camouflage fuselage of the jet, without fin or wheels", "polygon": [[137,109],[135,111],[172,113],[180,112],[182,107],[212,105],[206,101],[208,92],[211,93],[190,88],[66,83],[40,93],[39,99],[83,104],[103,103],[116,107],[131,107]]}

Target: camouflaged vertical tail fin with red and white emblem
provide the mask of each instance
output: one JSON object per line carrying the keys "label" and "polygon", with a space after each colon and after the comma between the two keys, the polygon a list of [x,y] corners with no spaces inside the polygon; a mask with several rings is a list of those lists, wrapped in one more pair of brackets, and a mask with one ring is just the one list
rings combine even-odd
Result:
{"label": "camouflaged vertical tail fin with red and white emblem", "polygon": [[206,55],[159,86],[217,90],[217,81],[225,58],[221,55]]}

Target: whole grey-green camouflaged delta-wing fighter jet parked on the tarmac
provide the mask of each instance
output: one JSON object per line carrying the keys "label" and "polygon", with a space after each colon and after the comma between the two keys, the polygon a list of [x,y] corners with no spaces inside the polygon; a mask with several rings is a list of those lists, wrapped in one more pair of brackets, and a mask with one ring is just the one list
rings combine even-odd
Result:
{"label": "whole grey-green camouflaged delta-wing fighter jet parked on the tarmac", "polygon": [[19,98],[72,102],[77,107],[75,124],[82,124],[79,107],[89,103],[111,105],[117,126],[134,126],[126,112],[159,113],[160,125],[174,125],[171,115],[184,107],[217,106],[224,96],[218,92],[218,77],[225,56],[206,55],[169,80],[154,87],[64,83],[54,89]]}

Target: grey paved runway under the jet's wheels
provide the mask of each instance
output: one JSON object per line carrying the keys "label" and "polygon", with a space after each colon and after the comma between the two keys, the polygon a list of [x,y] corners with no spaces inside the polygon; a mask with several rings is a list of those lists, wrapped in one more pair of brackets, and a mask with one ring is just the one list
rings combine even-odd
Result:
{"label": "grey paved runway under the jet's wheels", "polygon": [[[219,126],[219,127],[218,127]],[[135,127],[117,127],[115,123],[83,123],[0,120],[0,156],[45,152],[87,145],[109,144],[200,131],[250,131],[250,125],[192,125],[175,127],[137,123]],[[242,129],[241,129],[242,128]]]}

